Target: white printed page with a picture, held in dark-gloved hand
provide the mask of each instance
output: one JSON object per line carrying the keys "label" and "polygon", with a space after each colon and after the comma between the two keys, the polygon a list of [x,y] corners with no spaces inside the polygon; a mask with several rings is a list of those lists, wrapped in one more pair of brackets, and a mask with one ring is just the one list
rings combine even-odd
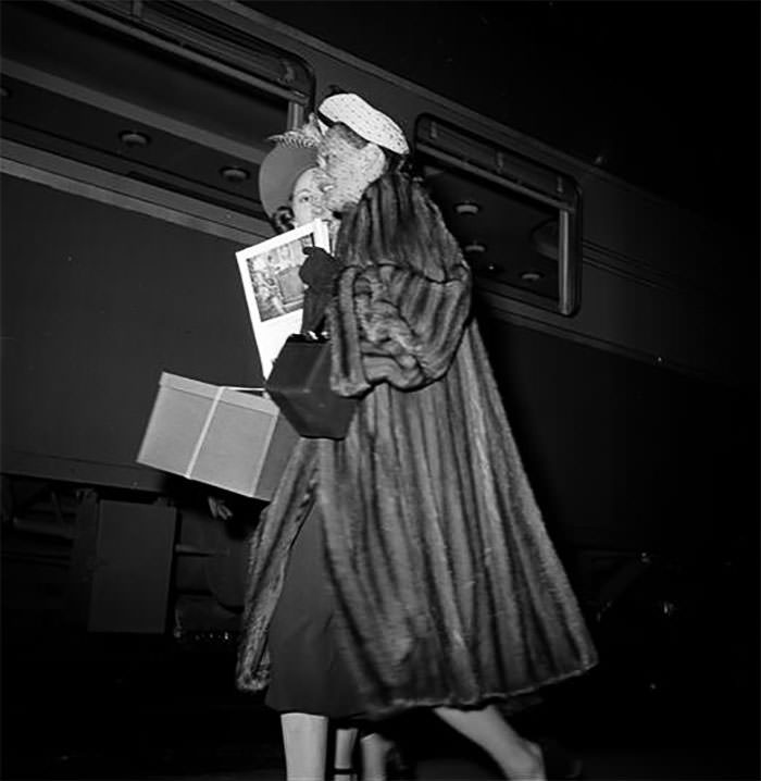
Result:
{"label": "white printed page with a picture, held in dark-gloved hand", "polygon": [[330,251],[323,220],[235,253],[265,380],[286,339],[301,330],[304,287],[299,268],[305,260],[303,248],[309,246]]}

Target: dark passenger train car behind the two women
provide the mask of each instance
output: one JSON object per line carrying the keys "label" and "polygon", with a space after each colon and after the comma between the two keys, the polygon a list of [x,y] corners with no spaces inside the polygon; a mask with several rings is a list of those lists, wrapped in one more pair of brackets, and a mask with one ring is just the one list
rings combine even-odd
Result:
{"label": "dark passenger train car behind the two women", "polygon": [[7,0],[2,22],[10,625],[233,642],[261,503],[213,520],[219,494],[136,456],[162,372],[262,385],[235,253],[273,235],[269,138],[332,91],[400,122],[472,264],[590,616],[653,561],[754,540],[756,292],[721,273],[752,241],[249,3]]}

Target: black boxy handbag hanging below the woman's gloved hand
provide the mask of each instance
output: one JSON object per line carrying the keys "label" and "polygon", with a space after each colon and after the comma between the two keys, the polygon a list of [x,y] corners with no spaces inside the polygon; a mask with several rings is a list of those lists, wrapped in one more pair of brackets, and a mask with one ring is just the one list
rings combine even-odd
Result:
{"label": "black boxy handbag hanging below the woman's gloved hand", "polygon": [[313,336],[287,339],[264,388],[301,436],[342,439],[358,404],[330,388],[330,343]]}

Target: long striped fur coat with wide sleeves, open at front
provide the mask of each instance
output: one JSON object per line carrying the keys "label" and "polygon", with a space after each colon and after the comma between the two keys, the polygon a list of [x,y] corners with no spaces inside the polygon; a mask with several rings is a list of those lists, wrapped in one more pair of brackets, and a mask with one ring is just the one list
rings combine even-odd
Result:
{"label": "long striped fur coat with wide sleeves, open at front", "polygon": [[[333,388],[361,401],[345,439],[299,442],[253,533],[237,682],[267,684],[267,625],[317,501],[367,714],[509,702],[596,653],[470,319],[469,266],[417,184],[386,185],[341,228],[328,310]],[[400,220],[415,210],[412,233],[378,226],[387,197]]]}

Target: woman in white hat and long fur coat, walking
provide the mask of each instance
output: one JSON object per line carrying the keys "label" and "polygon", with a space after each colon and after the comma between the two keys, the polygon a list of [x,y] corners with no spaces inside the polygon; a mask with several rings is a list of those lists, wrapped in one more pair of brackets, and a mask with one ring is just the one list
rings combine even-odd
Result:
{"label": "woman in white hat and long fur coat, walking", "polygon": [[[359,406],[345,439],[299,442],[253,534],[238,684],[280,698],[289,779],[323,778],[327,717],[414,707],[507,778],[544,779],[540,747],[495,704],[596,654],[471,319],[469,266],[422,185],[394,170],[396,123],[358,96],[320,112],[341,214],[332,386]],[[301,705],[296,679],[321,670],[325,691]]]}

